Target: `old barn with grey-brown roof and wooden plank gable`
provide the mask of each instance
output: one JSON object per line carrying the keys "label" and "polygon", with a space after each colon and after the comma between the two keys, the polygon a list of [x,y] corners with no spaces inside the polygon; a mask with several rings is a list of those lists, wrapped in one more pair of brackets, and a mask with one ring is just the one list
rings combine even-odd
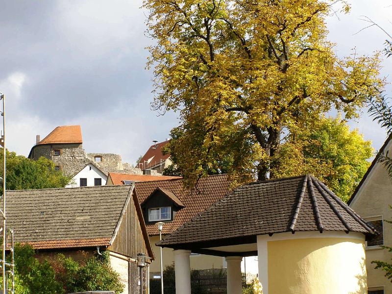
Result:
{"label": "old barn with grey-brown roof and wooden plank gable", "polygon": [[[140,293],[138,253],[154,260],[134,186],[8,191],[8,227],[15,242],[40,255],[62,252],[76,260],[80,250],[108,250],[124,284],[122,294]],[[147,272],[144,284],[147,289]],[[104,289],[111,290],[111,289]],[[147,294],[147,292],[146,292]]]}

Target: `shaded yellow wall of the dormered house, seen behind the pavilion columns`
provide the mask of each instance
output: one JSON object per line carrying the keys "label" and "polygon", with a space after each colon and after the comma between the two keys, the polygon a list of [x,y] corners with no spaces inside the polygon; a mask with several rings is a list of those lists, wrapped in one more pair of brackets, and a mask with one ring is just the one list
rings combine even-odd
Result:
{"label": "shaded yellow wall of the dormered house, seen behind the pavilion columns", "polygon": [[[150,243],[152,246],[152,250],[154,251],[155,260],[150,265],[150,273],[160,272],[161,264],[160,264],[160,253],[159,247],[155,244],[159,241],[159,236],[150,236]],[[163,269],[166,266],[174,263],[174,253],[171,248],[163,248]],[[220,256],[211,256],[211,255],[191,255],[191,269],[193,270],[206,270],[206,269],[221,269],[223,266],[223,257]]]}

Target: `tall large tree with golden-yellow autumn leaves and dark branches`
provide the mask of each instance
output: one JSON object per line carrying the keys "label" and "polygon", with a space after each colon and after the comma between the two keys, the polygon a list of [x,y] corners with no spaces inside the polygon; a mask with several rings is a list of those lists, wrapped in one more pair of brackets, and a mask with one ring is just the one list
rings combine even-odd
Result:
{"label": "tall large tree with golden-yellow autumn leaves and dark branches", "polygon": [[[178,165],[191,182],[230,156],[233,179],[275,177],[283,130],[335,108],[353,117],[383,87],[379,58],[338,58],[329,0],[145,0],[152,106],[179,112]],[[343,10],[349,7],[343,3]]]}

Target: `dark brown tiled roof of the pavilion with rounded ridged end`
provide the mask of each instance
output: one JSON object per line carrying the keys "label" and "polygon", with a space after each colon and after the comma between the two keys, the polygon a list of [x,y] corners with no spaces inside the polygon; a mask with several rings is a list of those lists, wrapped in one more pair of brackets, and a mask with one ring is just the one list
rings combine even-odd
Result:
{"label": "dark brown tiled roof of the pavilion with rounded ridged end", "polygon": [[376,233],[324,184],[305,175],[241,186],[160,244],[175,247],[295,231]]}

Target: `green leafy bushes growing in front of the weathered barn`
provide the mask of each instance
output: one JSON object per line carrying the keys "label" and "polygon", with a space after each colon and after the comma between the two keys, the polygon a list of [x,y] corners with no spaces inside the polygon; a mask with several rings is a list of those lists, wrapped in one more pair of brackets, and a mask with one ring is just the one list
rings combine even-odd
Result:
{"label": "green leafy bushes growing in front of the weathered barn", "polygon": [[[57,254],[37,258],[30,245],[15,245],[15,294],[64,294],[108,290],[123,292],[120,275],[111,268],[109,251],[82,261]],[[8,262],[10,255],[7,255]],[[9,281],[10,283],[11,281]],[[1,287],[1,285],[0,285]]]}

